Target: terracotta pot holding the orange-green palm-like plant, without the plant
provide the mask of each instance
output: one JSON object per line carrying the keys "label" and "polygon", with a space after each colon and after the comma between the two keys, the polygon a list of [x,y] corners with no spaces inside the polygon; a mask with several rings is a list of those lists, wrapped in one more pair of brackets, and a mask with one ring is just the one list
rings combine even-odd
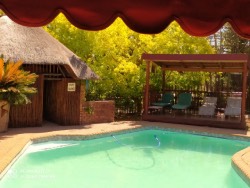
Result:
{"label": "terracotta pot holding the orange-green palm-like plant, without the plant", "polygon": [[0,132],[5,132],[9,124],[10,104],[7,101],[0,101]]}

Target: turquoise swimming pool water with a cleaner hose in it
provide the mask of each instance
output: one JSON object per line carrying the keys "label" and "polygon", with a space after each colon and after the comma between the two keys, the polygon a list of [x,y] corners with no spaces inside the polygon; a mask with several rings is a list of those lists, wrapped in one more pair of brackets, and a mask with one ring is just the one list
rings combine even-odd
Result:
{"label": "turquoise swimming pool water with a cleaner hose in it", "polygon": [[161,130],[32,144],[1,188],[247,188],[231,167],[246,141]]}

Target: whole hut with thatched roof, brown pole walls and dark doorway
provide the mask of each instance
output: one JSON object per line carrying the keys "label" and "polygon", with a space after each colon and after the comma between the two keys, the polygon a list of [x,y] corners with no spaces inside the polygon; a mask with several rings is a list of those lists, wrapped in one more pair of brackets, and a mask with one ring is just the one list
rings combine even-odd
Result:
{"label": "whole hut with thatched roof, brown pole walls and dark doorway", "polygon": [[98,76],[72,51],[42,28],[24,27],[0,17],[0,54],[23,60],[24,69],[39,75],[32,103],[12,106],[10,127],[41,126],[43,120],[61,125],[81,123],[85,87],[81,80]]}

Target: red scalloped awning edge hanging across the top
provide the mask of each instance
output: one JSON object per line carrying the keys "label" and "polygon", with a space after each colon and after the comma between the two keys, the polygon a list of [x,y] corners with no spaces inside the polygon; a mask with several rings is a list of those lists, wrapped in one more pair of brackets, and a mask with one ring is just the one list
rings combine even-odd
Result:
{"label": "red scalloped awning edge hanging across the top", "polygon": [[0,8],[25,26],[46,25],[63,12],[85,30],[104,29],[121,17],[140,33],[159,33],[176,20],[190,35],[208,36],[230,22],[250,38],[249,0],[0,0]]}

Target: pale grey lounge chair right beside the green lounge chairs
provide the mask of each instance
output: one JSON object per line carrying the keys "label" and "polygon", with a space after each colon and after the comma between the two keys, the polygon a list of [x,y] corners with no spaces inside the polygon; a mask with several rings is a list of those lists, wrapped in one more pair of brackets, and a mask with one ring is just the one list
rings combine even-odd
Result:
{"label": "pale grey lounge chair right beside the green lounge chairs", "polygon": [[215,113],[217,97],[205,97],[204,103],[199,107],[198,115],[213,116]]}

